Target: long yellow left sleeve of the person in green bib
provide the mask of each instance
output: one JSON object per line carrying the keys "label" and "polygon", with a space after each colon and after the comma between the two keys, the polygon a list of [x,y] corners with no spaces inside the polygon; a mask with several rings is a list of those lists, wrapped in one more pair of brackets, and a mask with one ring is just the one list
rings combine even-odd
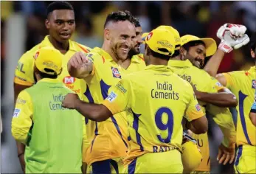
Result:
{"label": "long yellow left sleeve of the person in green bib", "polygon": [[21,91],[15,104],[12,120],[12,134],[18,142],[26,144],[32,126],[32,100],[27,91]]}

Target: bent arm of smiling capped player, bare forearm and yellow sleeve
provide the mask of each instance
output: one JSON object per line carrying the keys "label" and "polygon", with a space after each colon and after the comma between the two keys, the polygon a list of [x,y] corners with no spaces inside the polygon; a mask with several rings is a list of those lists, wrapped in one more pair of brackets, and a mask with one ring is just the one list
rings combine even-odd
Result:
{"label": "bent arm of smiling capped player, bare forearm and yellow sleeve", "polygon": [[[209,92],[197,91],[194,88],[197,100],[217,105],[219,107],[235,107],[238,105],[238,100],[228,88],[221,86],[215,78],[212,78],[209,83]],[[216,90],[214,90],[216,89]],[[218,93],[216,92],[218,91]]]}

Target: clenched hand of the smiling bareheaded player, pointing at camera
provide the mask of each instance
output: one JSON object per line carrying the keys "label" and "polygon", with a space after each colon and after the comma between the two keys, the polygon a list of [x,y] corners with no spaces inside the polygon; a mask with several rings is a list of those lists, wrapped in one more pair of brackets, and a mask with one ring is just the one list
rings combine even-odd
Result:
{"label": "clenched hand of the smiling bareheaded player, pointing at camera", "polygon": [[76,52],[75,55],[72,55],[70,58],[69,63],[72,67],[77,69],[87,63],[91,63],[91,60],[89,60],[83,52]]}

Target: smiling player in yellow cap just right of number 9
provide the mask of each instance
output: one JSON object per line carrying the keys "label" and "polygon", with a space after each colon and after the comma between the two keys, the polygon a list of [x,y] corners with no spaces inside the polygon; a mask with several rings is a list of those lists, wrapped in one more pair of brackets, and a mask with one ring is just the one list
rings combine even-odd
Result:
{"label": "smiling player in yellow cap just right of number 9", "polygon": [[[228,156],[221,156],[220,161],[226,164],[232,163],[235,158],[235,125],[228,108],[237,105],[237,100],[227,88],[218,83],[218,80],[210,77],[207,72],[201,70],[205,56],[213,55],[216,51],[216,44],[212,38],[198,38],[193,35],[181,37],[180,53],[169,60],[169,66],[181,78],[195,86],[195,94],[204,112],[208,111],[214,121],[224,133],[224,142]],[[199,92],[200,91],[200,92]],[[211,104],[211,105],[210,105]],[[219,107],[217,107],[219,106]],[[223,107],[223,108],[220,108]],[[210,172],[210,152],[207,133],[193,135],[197,139],[203,160],[195,173]],[[218,156],[219,157],[219,156]]]}

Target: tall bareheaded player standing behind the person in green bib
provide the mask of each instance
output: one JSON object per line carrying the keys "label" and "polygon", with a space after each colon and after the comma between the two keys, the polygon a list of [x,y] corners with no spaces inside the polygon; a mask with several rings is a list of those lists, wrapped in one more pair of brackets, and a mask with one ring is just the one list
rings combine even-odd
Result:
{"label": "tall bareheaded player standing behind the person in green bib", "polygon": [[[50,46],[57,49],[63,54],[63,71],[58,76],[58,80],[65,83],[68,88],[75,91],[80,97],[86,91],[86,86],[83,86],[81,80],[75,79],[69,75],[67,71],[67,62],[75,52],[89,52],[90,48],[71,41],[70,38],[75,31],[75,12],[71,4],[65,1],[55,1],[47,7],[47,18],[45,20],[46,29],[49,30],[49,35],[46,35],[44,41],[34,46],[18,60],[18,66],[15,69],[14,78],[14,101],[16,101],[18,94],[25,88],[29,88],[36,83],[33,76],[34,55],[38,49],[45,46]],[[84,128],[84,130],[86,130]],[[86,139],[86,132],[84,132],[84,139]],[[85,142],[86,143],[86,142]],[[25,170],[24,153],[25,146],[17,142],[18,159],[21,163],[21,168]],[[24,171],[25,172],[25,171]]]}

